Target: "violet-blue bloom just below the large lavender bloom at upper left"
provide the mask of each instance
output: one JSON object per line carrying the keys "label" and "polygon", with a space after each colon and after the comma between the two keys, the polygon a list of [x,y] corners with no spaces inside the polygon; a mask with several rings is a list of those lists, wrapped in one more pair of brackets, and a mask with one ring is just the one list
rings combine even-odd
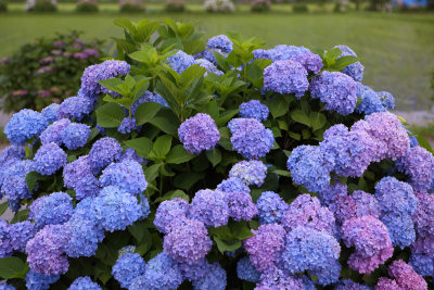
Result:
{"label": "violet-blue bloom just below the large lavender bloom at upper left", "polygon": [[71,97],[65,99],[59,108],[59,118],[81,121],[93,111],[94,103],[84,97]]}

